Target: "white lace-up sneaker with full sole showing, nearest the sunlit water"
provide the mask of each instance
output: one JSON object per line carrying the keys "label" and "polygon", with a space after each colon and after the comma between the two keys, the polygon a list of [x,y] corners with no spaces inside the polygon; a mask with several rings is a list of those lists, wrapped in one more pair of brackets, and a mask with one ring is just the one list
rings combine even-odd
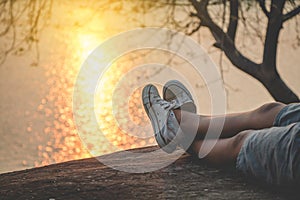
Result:
{"label": "white lace-up sneaker with full sole showing, nearest the sunlit water", "polygon": [[150,118],[156,142],[167,153],[172,153],[178,146],[176,135],[179,135],[178,121],[173,109],[176,101],[163,100],[154,85],[147,85],[142,93],[143,105]]}

